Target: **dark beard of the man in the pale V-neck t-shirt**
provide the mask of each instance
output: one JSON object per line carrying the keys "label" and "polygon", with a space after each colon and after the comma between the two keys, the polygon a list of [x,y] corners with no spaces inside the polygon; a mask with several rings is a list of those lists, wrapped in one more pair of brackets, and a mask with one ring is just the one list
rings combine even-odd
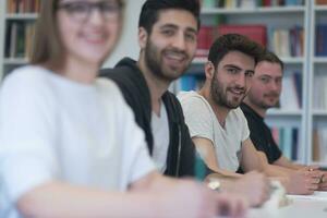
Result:
{"label": "dark beard of the man in the pale V-neck t-shirt", "polygon": [[223,87],[223,84],[221,84],[217,80],[217,72],[216,72],[211,81],[211,87],[210,87],[210,95],[214,102],[228,109],[238,108],[243,101],[243,99],[245,98],[245,88],[238,88],[240,92],[244,93],[243,97],[241,97],[238,100],[237,99],[229,100],[227,96],[227,92],[230,92],[232,89],[233,89],[232,87],[226,87],[226,88]]}

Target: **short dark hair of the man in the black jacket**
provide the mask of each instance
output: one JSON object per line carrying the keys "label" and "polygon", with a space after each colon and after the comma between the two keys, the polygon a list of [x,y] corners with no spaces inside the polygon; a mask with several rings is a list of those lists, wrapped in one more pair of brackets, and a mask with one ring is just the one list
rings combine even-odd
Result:
{"label": "short dark hair of the man in the black jacket", "polygon": [[199,0],[146,0],[141,10],[138,27],[144,27],[150,34],[154,24],[158,21],[159,12],[169,9],[191,12],[199,28]]}

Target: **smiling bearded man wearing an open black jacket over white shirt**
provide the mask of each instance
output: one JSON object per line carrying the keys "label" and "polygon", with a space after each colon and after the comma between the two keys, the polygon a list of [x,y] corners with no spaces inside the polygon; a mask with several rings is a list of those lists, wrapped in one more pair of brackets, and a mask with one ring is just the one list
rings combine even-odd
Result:
{"label": "smiling bearded man wearing an open black jacket over white shirt", "polygon": [[197,0],[147,0],[138,21],[138,60],[124,58],[101,71],[133,109],[158,170],[171,177],[194,174],[195,149],[181,105],[168,87],[194,58],[198,15]]}

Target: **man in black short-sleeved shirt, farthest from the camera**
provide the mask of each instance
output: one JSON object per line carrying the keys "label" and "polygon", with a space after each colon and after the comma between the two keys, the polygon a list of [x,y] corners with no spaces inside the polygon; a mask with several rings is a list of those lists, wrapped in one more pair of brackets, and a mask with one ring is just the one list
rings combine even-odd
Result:
{"label": "man in black short-sleeved shirt, farthest from the camera", "polygon": [[[252,87],[241,105],[251,130],[250,137],[257,150],[264,153],[270,165],[287,168],[293,173],[302,175],[298,178],[296,182],[293,182],[293,186],[300,186],[302,194],[311,194],[316,189],[326,191],[327,173],[320,172],[322,177],[317,187],[317,180],[313,177],[315,174],[307,173],[308,169],[313,170],[315,167],[298,165],[284,157],[275,142],[270,129],[264,121],[267,110],[276,107],[279,101],[282,75],[283,63],[275,53],[266,51],[259,57]],[[318,172],[316,169],[314,171]],[[307,181],[308,185],[301,189],[301,183],[304,183],[303,180]]]}

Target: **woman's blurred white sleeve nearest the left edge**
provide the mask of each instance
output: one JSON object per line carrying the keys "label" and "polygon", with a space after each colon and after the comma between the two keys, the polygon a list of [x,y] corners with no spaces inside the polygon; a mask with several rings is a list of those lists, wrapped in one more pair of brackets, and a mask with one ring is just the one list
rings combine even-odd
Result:
{"label": "woman's blurred white sleeve nearest the left edge", "polygon": [[2,190],[14,203],[25,192],[53,178],[46,90],[29,71],[12,73],[0,93],[0,171]]}

